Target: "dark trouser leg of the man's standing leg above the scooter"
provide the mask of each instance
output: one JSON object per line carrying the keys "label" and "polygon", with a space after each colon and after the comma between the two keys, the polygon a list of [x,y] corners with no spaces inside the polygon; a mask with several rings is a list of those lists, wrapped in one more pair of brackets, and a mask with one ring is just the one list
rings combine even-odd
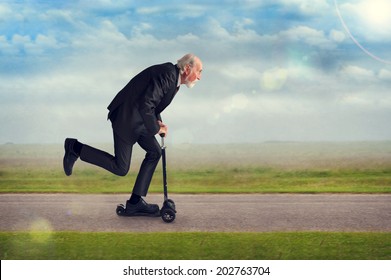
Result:
{"label": "dark trouser leg of the man's standing leg above the scooter", "polygon": [[140,136],[137,143],[147,153],[137,175],[137,179],[133,188],[133,194],[146,196],[153,173],[155,172],[156,166],[159,163],[160,157],[162,155],[162,151],[154,136]]}

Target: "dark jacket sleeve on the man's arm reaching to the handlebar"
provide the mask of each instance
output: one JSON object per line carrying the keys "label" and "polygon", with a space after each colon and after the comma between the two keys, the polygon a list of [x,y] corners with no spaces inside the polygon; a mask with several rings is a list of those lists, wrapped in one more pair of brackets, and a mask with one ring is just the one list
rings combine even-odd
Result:
{"label": "dark jacket sleeve on the man's arm reaching to the handlebar", "polygon": [[159,132],[158,120],[160,114],[156,114],[155,109],[164,96],[164,88],[158,79],[151,79],[149,86],[139,99],[139,112],[143,118],[144,125],[148,132],[155,135]]}

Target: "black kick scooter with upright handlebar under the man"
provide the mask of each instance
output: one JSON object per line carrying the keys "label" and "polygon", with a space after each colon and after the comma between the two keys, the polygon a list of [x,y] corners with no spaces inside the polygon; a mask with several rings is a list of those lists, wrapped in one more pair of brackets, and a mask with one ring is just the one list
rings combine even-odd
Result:
{"label": "black kick scooter with upright handlebar under the man", "polygon": [[[165,134],[160,134],[161,137],[161,149],[162,149],[162,165],[163,165],[163,192],[164,192],[164,201],[163,206],[160,209],[160,213],[156,214],[149,214],[147,216],[161,216],[163,221],[166,223],[171,223],[175,220],[175,202],[172,199],[168,198],[168,191],[167,191],[167,165],[166,165],[166,146],[164,145],[164,136]],[[123,204],[119,204],[116,209],[116,213],[118,216],[139,216],[139,214],[128,214],[126,213],[126,208]],[[143,215],[143,214],[141,214]],[[145,215],[144,215],[145,216]]]}

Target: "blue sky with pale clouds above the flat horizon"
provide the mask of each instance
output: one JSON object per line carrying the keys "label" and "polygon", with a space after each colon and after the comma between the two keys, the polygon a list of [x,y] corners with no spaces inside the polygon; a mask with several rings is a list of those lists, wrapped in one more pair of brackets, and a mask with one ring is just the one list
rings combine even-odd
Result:
{"label": "blue sky with pale clouds above the flat horizon", "polygon": [[3,0],[0,144],[111,142],[118,91],[186,53],[170,143],[391,140],[391,0]]}

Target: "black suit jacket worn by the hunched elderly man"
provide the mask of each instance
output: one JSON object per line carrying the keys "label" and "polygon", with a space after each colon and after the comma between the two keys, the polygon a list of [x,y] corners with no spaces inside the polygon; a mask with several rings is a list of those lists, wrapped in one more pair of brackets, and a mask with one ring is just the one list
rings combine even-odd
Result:
{"label": "black suit jacket worn by the hunched elderly man", "polygon": [[158,133],[157,121],[178,91],[178,79],[179,68],[170,62],[137,74],[107,107],[114,132],[131,143],[137,141],[141,131]]}

